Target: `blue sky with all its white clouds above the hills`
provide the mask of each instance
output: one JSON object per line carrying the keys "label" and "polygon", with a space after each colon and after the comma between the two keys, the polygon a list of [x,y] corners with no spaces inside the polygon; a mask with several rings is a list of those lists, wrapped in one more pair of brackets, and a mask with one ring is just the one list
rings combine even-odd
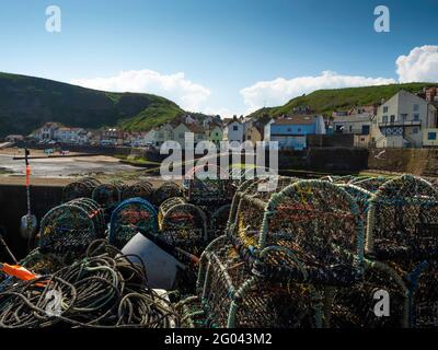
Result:
{"label": "blue sky with all its white clouds above the hills", "polygon": [[[61,9],[56,34],[45,30],[53,4]],[[390,33],[373,30],[379,4],[390,10]],[[0,71],[157,93],[191,110],[245,114],[321,88],[438,81],[436,0],[0,0]]]}

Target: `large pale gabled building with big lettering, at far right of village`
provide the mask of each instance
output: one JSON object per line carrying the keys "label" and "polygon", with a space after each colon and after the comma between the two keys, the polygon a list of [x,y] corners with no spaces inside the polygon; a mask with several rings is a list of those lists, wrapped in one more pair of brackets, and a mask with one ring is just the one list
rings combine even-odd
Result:
{"label": "large pale gabled building with big lettering, at far right of village", "polygon": [[[377,148],[420,148],[437,127],[437,107],[407,91],[400,91],[379,106],[371,125]],[[435,135],[436,136],[436,135]],[[426,145],[426,144],[425,144]]]}

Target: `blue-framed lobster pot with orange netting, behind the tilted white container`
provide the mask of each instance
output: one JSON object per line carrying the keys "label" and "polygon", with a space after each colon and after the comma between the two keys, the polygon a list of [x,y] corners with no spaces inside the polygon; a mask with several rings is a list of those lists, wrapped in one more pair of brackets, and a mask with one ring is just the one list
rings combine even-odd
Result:
{"label": "blue-framed lobster pot with orange netting, behind the tilted white container", "polygon": [[113,210],[108,242],[122,248],[139,232],[157,234],[157,211],[142,198],[127,199]]}

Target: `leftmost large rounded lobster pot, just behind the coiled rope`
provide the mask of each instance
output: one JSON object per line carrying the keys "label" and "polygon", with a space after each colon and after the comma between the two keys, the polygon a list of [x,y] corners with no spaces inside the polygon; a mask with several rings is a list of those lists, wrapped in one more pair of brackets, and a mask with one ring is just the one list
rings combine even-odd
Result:
{"label": "leftmost large rounded lobster pot, just behind the coiled rope", "polygon": [[44,253],[80,253],[92,241],[103,238],[104,232],[104,213],[99,205],[89,198],[74,199],[43,218],[39,248]]}

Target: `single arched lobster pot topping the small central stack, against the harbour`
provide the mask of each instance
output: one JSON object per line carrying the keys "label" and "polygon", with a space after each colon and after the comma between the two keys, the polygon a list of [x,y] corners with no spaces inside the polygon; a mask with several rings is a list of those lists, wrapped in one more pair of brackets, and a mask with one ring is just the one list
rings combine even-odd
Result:
{"label": "single arched lobster pot topping the small central stack, against the harbour", "polygon": [[231,200],[232,183],[221,167],[210,165],[208,171],[197,166],[187,173],[183,189],[186,200],[194,205],[220,205]]}

